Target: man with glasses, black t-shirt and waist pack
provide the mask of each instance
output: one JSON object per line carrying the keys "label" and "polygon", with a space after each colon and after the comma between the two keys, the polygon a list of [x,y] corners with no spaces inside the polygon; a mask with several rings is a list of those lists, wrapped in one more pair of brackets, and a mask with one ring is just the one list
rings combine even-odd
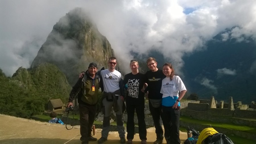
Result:
{"label": "man with glasses, black t-shirt and waist pack", "polygon": [[[162,124],[160,122],[160,116],[163,120],[162,115],[162,93],[161,86],[162,86],[162,80],[166,77],[163,74],[163,71],[158,69],[156,59],[153,57],[150,57],[147,59],[147,65],[150,69],[146,72],[146,83],[148,84],[148,87],[145,89],[145,92],[148,91],[148,99],[149,99],[149,110],[152,115],[154,126],[156,128],[156,141],[154,141],[154,144],[160,144],[163,142],[163,129]],[[163,121],[164,123],[164,121]],[[165,137],[169,137],[168,130],[164,128]]]}

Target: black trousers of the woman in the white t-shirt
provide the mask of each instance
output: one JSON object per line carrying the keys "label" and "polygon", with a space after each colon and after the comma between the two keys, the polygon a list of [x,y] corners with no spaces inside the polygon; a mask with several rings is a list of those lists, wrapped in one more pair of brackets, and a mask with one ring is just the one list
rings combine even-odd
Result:
{"label": "black trousers of the woman in the white t-shirt", "polygon": [[164,114],[164,125],[168,127],[168,133],[170,133],[169,138],[166,137],[172,144],[180,144],[179,139],[179,116],[180,107],[173,109],[172,107],[162,106]]}

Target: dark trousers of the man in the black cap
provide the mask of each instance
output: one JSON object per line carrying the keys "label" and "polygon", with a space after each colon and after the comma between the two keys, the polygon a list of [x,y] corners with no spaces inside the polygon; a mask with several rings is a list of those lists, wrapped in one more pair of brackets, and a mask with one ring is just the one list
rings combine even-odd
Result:
{"label": "dark trousers of the man in the black cap", "polygon": [[88,137],[92,133],[92,124],[96,114],[96,105],[81,105],[79,104],[80,113],[80,140],[82,142],[88,141]]}

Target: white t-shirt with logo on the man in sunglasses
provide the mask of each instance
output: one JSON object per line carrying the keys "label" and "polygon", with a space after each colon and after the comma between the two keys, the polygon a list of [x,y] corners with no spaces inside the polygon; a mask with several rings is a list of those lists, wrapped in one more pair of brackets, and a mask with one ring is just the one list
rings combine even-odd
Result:
{"label": "white t-shirt with logo on the man in sunglasses", "polygon": [[110,72],[108,69],[101,70],[100,75],[102,77],[104,91],[105,92],[114,92],[120,89],[119,82],[121,80],[121,73],[117,70]]}

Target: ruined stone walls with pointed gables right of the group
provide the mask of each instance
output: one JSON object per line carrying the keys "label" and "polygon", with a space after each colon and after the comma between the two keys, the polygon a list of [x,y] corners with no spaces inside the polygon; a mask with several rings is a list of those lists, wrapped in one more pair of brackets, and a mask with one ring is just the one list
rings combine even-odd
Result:
{"label": "ruined stone walls with pointed gables right of the group", "polygon": [[[207,103],[206,103],[207,102]],[[215,102],[215,103],[214,103]],[[188,107],[181,110],[181,116],[188,116],[199,120],[242,124],[255,126],[256,121],[243,120],[241,118],[256,118],[256,104],[242,105],[241,102],[233,103],[232,97],[228,103],[220,101],[219,104],[211,97],[210,100],[200,100],[200,103],[188,103]],[[248,109],[249,108],[249,109]]]}

